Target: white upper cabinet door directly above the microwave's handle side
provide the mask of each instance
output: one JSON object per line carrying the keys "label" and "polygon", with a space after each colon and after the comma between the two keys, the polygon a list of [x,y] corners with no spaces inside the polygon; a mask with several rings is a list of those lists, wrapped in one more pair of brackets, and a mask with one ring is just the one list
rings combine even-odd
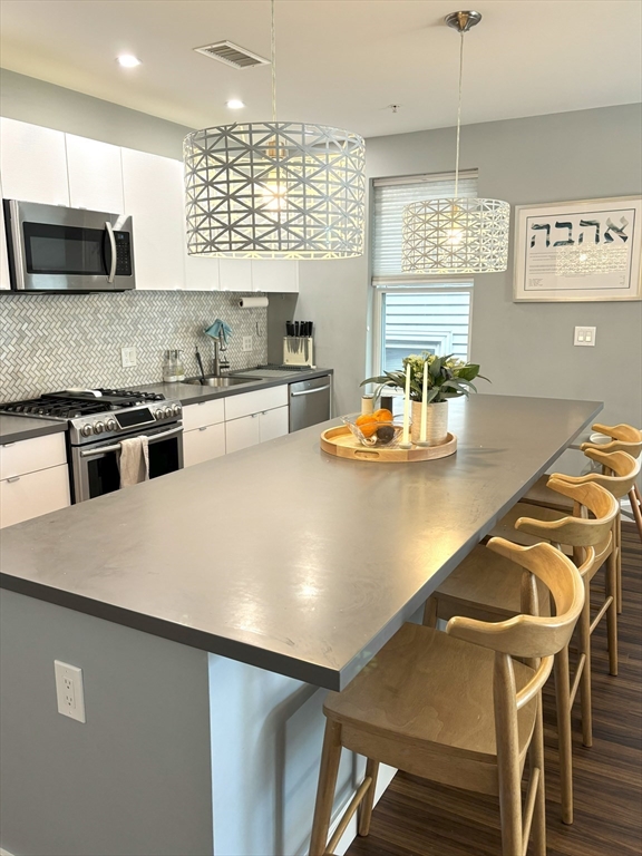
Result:
{"label": "white upper cabinet door directly above the microwave's handle side", "polygon": [[74,134],[66,137],[71,207],[125,213],[119,146]]}

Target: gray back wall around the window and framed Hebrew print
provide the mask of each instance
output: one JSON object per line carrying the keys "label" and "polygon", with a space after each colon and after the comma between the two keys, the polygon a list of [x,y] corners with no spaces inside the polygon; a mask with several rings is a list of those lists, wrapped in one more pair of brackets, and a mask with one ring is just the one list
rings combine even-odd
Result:
{"label": "gray back wall around the window and framed Hebrew print", "polygon": [[[537,116],[461,133],[461,167],[479,169],[479,195],[513,205],[639,194],[640,105]],[[367,140],[378,176],[453,169],[453,128]],[[296,317],[314,319],[320,364],[334,368],[338,412],[354,410],[366,364],[368,254],[300,266]],[[475,276],[471,358],[484,391],[605,401],[606,422],[642,422],[642,303],[513,303],[508,271]],[[573,347],[575,325],[597,328],[595,348]]]}

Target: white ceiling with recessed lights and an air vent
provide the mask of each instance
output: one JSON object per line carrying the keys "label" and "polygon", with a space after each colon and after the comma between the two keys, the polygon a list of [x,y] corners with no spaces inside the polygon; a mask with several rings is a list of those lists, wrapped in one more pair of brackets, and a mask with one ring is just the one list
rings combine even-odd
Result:
{"label": "white ceiling with recessed lights and an air vent", "polygon": [[[204,127],[271,115],[270,67],[192,48],[228,39],[270,56],[269,0],[2,0],[3,67]],[[455,124],[456,0],[278,0],[278,117],[364,136]],[[640,0],[480,0],[466,36],[464,123],[642,100]],[[143,65],[123,69],[121,52]],[[228,98],[244,110],[232,111]],[[400,104],[397,114],[387,105]],[[616,146],[616,143],[615,143]]]}

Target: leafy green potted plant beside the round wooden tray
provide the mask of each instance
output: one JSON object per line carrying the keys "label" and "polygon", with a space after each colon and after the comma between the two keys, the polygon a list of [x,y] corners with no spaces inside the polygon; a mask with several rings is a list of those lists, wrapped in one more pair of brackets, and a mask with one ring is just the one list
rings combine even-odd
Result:
{"label": "leafy green potted plant beside the round wooden tray", "polygon": [[430,446],[445,442],[448,436],[448,399],[468,396],[477,389],[473,381],[476,378],[488,380],[479,374],[479,366],[473,362],[464,362],[453,354],[437,357],[435,353],[422,351],[421,354],[411,353],[405,357],[402,368],[397,371],[387,371],[376,378],[366,378],[361,382],[377,383],[374,398],[381,395],[383,387],[406,389],[406,368],[410,366],[410,400],[412,402],[412,442],[419,440],[421,428],[421,402],[424,398],[424,366],[428,363],[427,377],[427,416],[426,441]]}

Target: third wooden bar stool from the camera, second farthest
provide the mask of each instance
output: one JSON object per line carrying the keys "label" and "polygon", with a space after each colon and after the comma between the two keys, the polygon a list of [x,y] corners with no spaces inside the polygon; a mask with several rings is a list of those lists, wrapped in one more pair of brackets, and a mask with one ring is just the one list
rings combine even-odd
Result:
{"label": "third wooden bar stool from the camera, second farthest", "polygon": [[[602,426],[603,427],[603,426]],[[587,458],[602,464],[603,473],[587,473],[584,476],[567,476],[564,473],[554,473],[556,478],[562,478],[573,485],[586,484],[587,481],[601,485],[610,490],[613,496],[620,500],[623,496],[630,494],[635,487],[635,481],[640,475],[641,461],[635,460],[626,451],[604,451],[603,447],[585,449]],[[525,495],[524,503],[528,505],[541,505],[547,508],[554,508],[567,514],[573,513],[573,504],[567,498],[560,496],[556,492],[539,481]],[[499,527],[502,528],[502,523]],[[615,565],[617,568],[617,591],[616,604],[617,612],[622,612],[622,532],[620,513],[613,523],[613,548],[615,552]]]}

